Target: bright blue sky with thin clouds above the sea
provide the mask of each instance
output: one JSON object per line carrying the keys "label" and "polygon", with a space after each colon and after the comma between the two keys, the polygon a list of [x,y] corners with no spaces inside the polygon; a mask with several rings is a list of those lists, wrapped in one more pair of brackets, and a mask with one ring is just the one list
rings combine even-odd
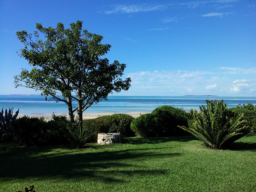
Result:
{"label": "bright blue sky with thin clouds above the sea", "polygon": [[41,93],[13,84],[31,69],[17,31],[77,20],[126,64],[131,87],[113,95],[256,96],[256,0],[0,0],[0,95]]}

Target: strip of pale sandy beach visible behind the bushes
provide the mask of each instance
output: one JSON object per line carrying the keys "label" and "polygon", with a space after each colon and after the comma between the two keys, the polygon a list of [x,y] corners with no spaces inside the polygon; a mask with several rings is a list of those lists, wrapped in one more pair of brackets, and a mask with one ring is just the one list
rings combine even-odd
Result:
{"label": "strip of pale sandy beach visible behind the bushes", "polygon": [[[93,118],[97,118],[99,116],[105,116],[105,115],[113,115],[114,113],[83,113],[83,119],[93,119]],[[132,112],[132,113],[126,113],[128,115],[131,115],[133,116],[134,118],[142,115],[142,114],[145,114],[144,112]],[[29,117],[44,117],[44,118],[47,118],[47,119],[51,119],[52,118],[52,114],[41,114],[41,113],[38,113],[38,114],[19,114],[17,118],[19,117],[22,117],[22,116],[29,116]],[[61,115],[61,114],[55,114],[55,115]],[[68,117],[68,114],[67,114],[67,117]]]}

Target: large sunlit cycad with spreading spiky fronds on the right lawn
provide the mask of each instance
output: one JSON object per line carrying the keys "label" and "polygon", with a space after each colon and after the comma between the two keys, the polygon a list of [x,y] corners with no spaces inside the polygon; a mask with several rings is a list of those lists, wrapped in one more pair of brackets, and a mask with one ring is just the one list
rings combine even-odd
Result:
{"label": "large sunlit cycad with spreading spiky fronds on the right lawn", "polygon": [[206,100],[206,107],[200,106],[200,112],[193,111],[194,120],[188,127],[181,129],[195,135],[212,149],[226,148],[251,131],[246,126],[243,114],[235,114],[227,109],[223,100]]}

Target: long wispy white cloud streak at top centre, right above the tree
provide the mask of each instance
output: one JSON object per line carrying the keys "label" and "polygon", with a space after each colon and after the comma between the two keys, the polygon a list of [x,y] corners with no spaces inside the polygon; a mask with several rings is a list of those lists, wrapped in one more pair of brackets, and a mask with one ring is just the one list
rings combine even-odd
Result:
{"label": "long wispy white cloud streak at top centre, right above the tree", "polygon": [[111,13],[135,13],[135,12],[149,12],[166,9],[167,6],[163,4],[132,4],[132,5],[113,5],[110,10],[104,11],[105,14]]}

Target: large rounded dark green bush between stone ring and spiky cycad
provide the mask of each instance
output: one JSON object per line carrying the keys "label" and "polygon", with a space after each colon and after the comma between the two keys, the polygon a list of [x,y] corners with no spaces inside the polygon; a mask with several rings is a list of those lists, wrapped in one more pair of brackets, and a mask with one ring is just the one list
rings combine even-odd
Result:
{"label": "large rounded dark green bush between stone ring and spiky cycad", "polygon": [[189,113],[182,108],[161,106],[150,114],[144,114],[135,118],[131,123],[131,129],[140,137],[161,137],[186,134],[177,126],[187,126]]}

